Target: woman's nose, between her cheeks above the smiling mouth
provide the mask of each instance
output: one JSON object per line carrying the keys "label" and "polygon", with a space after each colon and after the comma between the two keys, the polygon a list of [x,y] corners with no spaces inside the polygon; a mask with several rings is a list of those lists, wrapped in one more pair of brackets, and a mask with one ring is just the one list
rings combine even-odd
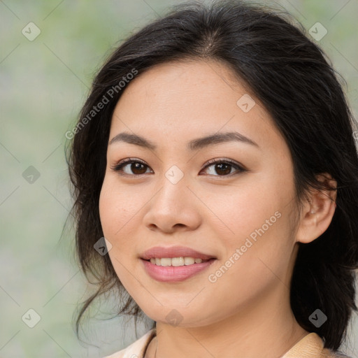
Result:
{"label": "woman's nose, between her cheeks above the smiling mouth", "polygon": [[199,227],[203,208],[187,184],[185,176],[178,182],[164,177],[159,189],[145,206],[143,221],[148,229],[171,234]]}

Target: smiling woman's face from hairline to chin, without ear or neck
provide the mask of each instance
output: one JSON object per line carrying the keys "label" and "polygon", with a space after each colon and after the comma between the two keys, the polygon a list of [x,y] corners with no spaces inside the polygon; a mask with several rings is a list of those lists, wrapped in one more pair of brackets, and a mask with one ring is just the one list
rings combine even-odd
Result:
{"label": "smiling woman's face from hairline to chin, without ear or neck", "polygon": [[[200,327],[288,298],[296,256],[292,157],[270,115],[227,67],[173,62],[140,74],[117,103],[109,142],[103,234],[118,278],[146,315]],[[135,163],[115,170],[129,158]],[[164,267],[143,259],[150,248],[179,245],[213,259],[157,260],[174,265]]]}

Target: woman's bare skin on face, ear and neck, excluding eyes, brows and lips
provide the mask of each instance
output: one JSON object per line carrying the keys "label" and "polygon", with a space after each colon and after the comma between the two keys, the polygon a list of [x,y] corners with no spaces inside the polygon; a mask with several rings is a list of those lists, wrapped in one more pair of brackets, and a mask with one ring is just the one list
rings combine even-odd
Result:
{"label": "woman's bare skin on face, ear and neck, excluding eyes, brows and lips", "polygon": [[[255,99],[248,113],[236,104],[243,94]],[[99,201],[115,272],[157,322],[157,337],[145,357],[283,355],[308,334],[289,306],[296,243],[309,243],[327,229],[334,194],[312,191],[298,211],[292,157],[284,138],[255,94],[219,62],[172,62],[138,75],[117,103],[109,142],[122,131],[157,145],[156,151],[124,142],[108,145]],[[185,148],[194,138],[226,131],[240,132],[259,148],[239,142],[195,152]],[[128,164],[122,169],[127,176],[112,169],[129,157],[146,166],[135,171]],[[231,174],[223,175],[215,164],[206,166],[210,159],[231,159],[246,171],[229,166],[225,173]],[[184,173],[175,185],[165,176],[173,165]],[[280,218],[210,282],[208,275],[275,212]],[[184,245],[217,260],[182,282],[158,282],[139,259],[156,245]],[[177,325],[166,320],[173,309],[182,319]]]}

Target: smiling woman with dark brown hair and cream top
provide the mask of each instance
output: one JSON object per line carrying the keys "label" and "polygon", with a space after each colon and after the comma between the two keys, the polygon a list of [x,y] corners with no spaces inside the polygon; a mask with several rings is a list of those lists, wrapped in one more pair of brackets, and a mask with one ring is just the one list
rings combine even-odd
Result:
{"label": "smiling woman with dark brown hair and cream top", "polygon": [[154,325],[109,357],[343,357],[356,125],[273,10],[187,3],[128,38],[73,131],[78,257],[99,285],[77,329],[117,289],[119,314]]}

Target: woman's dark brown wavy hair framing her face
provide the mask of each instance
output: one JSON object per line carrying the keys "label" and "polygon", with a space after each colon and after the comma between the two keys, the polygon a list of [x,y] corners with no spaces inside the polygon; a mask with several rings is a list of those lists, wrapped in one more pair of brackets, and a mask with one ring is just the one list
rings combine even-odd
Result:
{"label": "woman's dark brown wavy hair framing her face", "polygon": [[[337,350],[341,345],[352,310],[357,310],[357,123],[322,50],[303,28],[287,19],[275,10],[243,1],[180,4],[132,34],[101,67],[73,131],[68,158],[78,259],[87,278],[92,275],[98,285],[80,310],[77,334],[90,303],[110,289],[122,292],[118,314],[143,314],[126,296],[108,255],[94,250],[103,236],[99,194],[110,122],[128,74],[138,71],[140,75],[170,61],[214,59],[232,69],[273,117],[292,153],[298,202],[310,187],[326,188],[317,174],[329,173],[337,182],[337,208],[329,228],[312,243],[299,244],[291,306],[301,327],[324,337],[326,348]],[[104,96],[108,103],[91,112]],[[317,308],[328,317],[321,327],[309,320]]]}

